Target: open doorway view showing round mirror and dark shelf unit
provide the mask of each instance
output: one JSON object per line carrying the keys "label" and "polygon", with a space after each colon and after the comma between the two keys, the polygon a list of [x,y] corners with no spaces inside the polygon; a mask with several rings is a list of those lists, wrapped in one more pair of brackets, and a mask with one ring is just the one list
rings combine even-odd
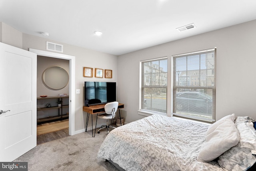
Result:
{"label": "open doorway view showing round mirror and dark shelf unit", "polygon": [[37,56],[37,145],[69,135],[69,73],[69,60]]}

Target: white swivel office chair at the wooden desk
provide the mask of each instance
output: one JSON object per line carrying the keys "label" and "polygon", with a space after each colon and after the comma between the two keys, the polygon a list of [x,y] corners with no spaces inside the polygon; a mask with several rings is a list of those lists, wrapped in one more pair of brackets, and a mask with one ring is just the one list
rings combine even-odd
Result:
{"label": "white swivel office chair at the wooden desk", "polygon": [[98,130],[98,133],[100,133],[100,130],[103,129],[103,128],[107,128],[108,133],[109,133],[109,128],[110,127],[111,128],[116,128],[116,127],[108,125],[108,119],[114,119],[114,117],[116,116],[117,108],[118,108],[118,102],[117,101],[110,102],[110,103],[107,103],[105,105],[104,109],[105,109],[106,113],[102,114],[102,115],[98,115],[98,118],[107,119],[107,125],[102,125],[100,127],[100,129]]}

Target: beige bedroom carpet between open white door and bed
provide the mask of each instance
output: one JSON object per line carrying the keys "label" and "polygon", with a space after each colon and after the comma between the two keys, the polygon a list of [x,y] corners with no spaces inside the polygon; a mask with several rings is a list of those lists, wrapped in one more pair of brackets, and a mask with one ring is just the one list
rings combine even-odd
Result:
{"label": "beige bedroom carpet between open white door and bed", "polygon": [[14,162],[27,161],[28,171],[118,171],[97,153],[106,129],[92,137],[92,131],[37,145]]}

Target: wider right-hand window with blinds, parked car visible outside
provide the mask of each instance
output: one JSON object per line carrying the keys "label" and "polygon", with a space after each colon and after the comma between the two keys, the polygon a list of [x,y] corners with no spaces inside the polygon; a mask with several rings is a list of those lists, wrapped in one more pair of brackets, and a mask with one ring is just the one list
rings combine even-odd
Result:
{"label": "wider right-hand window with blinds, parked car visible outside", "polygon": [[216,49],[173,55],[173,115],[215,121]]}

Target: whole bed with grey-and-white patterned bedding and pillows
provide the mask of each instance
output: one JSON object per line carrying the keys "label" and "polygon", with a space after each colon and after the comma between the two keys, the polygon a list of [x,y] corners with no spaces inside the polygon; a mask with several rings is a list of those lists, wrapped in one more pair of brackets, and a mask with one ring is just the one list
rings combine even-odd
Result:
{"label": "whole bed with grey-and-white patterned bedding and pillows", "polygon": [[113,129],[98,158],[126,171],[248,170],[256,162],[252,121],[232,114],[206,125],[152,115]]}

